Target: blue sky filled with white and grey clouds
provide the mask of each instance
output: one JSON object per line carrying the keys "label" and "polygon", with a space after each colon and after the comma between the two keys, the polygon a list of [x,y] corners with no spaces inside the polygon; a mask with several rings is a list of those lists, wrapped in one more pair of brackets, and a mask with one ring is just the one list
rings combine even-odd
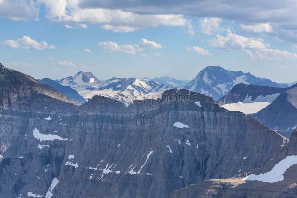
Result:
{"label": "blue sky filled with white and grey clouds", "polygon": [[0,62],[35,78],[191,80],[219,65],[293,82],[296,10],[295,0],[0,0]]}

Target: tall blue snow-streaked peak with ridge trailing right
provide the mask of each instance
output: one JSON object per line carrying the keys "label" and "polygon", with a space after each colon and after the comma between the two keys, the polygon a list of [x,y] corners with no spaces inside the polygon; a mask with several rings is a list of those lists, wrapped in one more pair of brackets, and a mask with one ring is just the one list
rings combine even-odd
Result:
{"label": "tall blue snow-streaked peak with ridge trailing right", "polygon": [[287,87],[287,85],[278,84],[267,78],[258,78],[249,72],[244,73],[242,71],[225,70],[219,66],[207,66],[184,89],[202,93],[213,97],[215,100],[219,100],[219,98],[230,92],[236,84],[240,83],[269,87]]}

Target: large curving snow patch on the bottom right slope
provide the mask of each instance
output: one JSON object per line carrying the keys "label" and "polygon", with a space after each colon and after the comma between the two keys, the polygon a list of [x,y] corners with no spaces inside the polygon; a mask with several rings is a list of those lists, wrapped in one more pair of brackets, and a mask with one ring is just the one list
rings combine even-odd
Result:
{"label": "large curving snow patch on the bottom right slope", "polygon": [[258,180],[262,182],[274,183],[278,181],[284,180],[285,171],[292,166],[293,164],[297,164],[297,155],[287,156],[285,159],[281,160],[279,163],[275,164],[271,171],[266,172],[260,175],[248,175],[244,177],[242,180]]}

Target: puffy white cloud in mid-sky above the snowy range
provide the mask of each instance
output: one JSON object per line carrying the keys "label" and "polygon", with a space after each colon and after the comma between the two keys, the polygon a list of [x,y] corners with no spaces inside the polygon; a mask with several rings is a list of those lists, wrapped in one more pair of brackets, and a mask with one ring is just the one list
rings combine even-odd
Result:
{"label": "puffy white cloud in mid-sky above the snowy range", "polygon": [[157,44],[154,41],[149,41],[146,39],[141,39],[139,44],[134,45],[118,45],[116,42],[113,41],[103,41],[99,42],[98,45],[103,48],[104,51],[113,53],[116,51],[124,52],[126,54],[136,54],[139,51],[143,51],[145,49],[151,48],[162,48],[160,44]]}

